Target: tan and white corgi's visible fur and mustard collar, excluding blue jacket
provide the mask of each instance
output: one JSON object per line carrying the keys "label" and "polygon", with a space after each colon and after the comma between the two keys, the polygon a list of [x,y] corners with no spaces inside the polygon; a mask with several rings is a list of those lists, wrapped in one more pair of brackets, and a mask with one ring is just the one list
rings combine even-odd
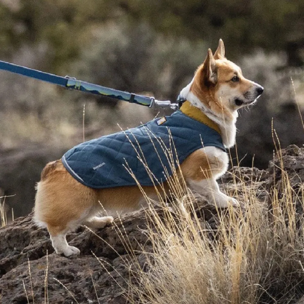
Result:
{"label": "tan and white corgi's visible fur and mustard collar, excluding blue jacket", "polygon": [[[197,68],[191,83],[181,90],[180,96],[186,100],[181,111],[217,130],[223,146],[230,148],[235,144],[237,110],[254,103],[262,92],[261,85],[244,78],[240,67],[226,59],[224,43],[220,39],[215,54],[208,49],[206,59]],[[226,152],[215,146],[198,148],[180,164],[188,187],[219,208],[238,205],[236,199],[219,190],[216,182],[227,167]],[[157,187],[142,188],[147,196],[157,197]],[[166,182],[164,188],[168,189]],[[62,161],[57,160],[48,163],[41,173],[34,218],[40,226],[47,227],[57,254],[70,256],[79,254],[79,250],[68,245],[67,232],[81,224],[102,228],[112,223],[112,216],[96,216],[102,211],[101,204],[107,212],[116,214],[139,209],[147,203],[136,185],[90,188],[72,177]]]}

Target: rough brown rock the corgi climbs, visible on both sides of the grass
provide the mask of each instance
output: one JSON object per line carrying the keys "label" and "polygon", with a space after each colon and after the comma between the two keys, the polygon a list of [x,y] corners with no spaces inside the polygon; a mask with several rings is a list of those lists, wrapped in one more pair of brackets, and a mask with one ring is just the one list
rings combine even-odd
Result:
{"label": "rough brown rock the corgi climbs, visible on both sides of the grass", "polygon": [[[299,193],[303,190],[304,148],[289,146],[282,151],[282,162],[292,187],[298,189],[295,193]],[[253,188],[261,202],[267,202],[269,191],[279,187],[282,178],[282,171],[273,162],[268,170],[233,168],[233,171],[234,176],[241,176],[244,184]],[[273,183],[273,176],[278,183]],[[226,191],[235,189],[231,172],[227,172],[222,180]],[[242,201],[242,187],[238,191]],[[161,214],[161,210],[158,212]],[[216,227],[217,212],[206,202],[198,203],[197,215],[208,221],[211,227]],[[143,233],[145,227],[143,210],[117,218],[115,225],[96,233],[80,227],[67,239],[80,249],[81,254],[67,258],[54,253],[47,230],[35,226],[32,214],[16,219],[0,229],[0,303],[60,304],[75,303],[76,300],[79,304],[126,303],[130,269],[125,261],[132,257],[128,256],[122,239],[128,239],[143,267],[140,246],[146,251],[152,250]]]}

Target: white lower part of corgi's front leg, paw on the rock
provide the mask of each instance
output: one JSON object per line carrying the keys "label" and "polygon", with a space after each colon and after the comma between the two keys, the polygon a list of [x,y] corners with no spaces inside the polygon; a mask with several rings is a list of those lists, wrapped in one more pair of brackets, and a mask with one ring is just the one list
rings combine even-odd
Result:
{"label": "white lower part of corgi's front leg, paw on the rock", "polygon": [[213,202],[219,208],[227,208],[229,205],[236,207],[239,202],[220,191],[217,181],[213,178],[201,181],[189,181],[191,190],[205,196],[209,202]]}

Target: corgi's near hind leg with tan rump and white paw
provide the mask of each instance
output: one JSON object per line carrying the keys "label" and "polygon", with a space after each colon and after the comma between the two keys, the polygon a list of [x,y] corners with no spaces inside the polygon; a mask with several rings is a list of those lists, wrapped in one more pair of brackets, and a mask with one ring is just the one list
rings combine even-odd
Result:
{"label": "corgi's near hind leg with tan rump and white paw", "polygon": [[78,248],[69,246],[65,236],[98,212],[95,192],[76,181],[61,161],[47,164],[36,188],[34,219],[47,227],[58,254],[78,254]]}

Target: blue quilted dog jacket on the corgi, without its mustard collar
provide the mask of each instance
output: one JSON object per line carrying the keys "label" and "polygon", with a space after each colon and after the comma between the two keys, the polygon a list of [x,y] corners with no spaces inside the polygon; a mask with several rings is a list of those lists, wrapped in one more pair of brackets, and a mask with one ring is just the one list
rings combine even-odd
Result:
{"label": "blue quilted dog jacket on the corgi, without its mustard collar", "polygon": [[207,146],[226,151],[217,131],[178,110],[81,143],[68,150],[62,162],[76,180],[90,188],[136,185],[130,172],[140,185],[152,186],[168,179],[189,154]]}

